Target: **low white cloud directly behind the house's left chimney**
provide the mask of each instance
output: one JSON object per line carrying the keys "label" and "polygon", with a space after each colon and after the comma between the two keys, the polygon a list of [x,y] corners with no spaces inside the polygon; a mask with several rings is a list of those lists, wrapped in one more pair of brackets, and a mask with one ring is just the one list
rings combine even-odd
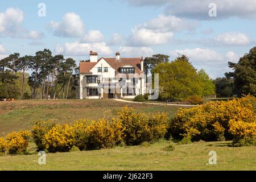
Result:
{"label": "low white cloud directly behind the house's left chimney", "polygon": [[99,55],[111,55],[112,49],[106,46],[105,42],[102,43],[65,43],[63,47],[56,46],[55,53],[64,53],[68,56],[85,56],[89,51],[96,51]]}

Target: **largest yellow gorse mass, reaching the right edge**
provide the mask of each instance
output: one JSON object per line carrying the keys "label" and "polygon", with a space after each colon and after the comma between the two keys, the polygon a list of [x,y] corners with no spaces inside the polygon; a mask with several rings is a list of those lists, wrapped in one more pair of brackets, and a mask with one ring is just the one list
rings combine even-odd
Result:
{"label": "largest yellow gorse mass, reaching the right edge", "polygon": [[239,100],[209,102],[190,109],[179,109],[168,131],[175,138],[234,139],[233,145],[254,144],[255,118],[256,99],[246,96]]}

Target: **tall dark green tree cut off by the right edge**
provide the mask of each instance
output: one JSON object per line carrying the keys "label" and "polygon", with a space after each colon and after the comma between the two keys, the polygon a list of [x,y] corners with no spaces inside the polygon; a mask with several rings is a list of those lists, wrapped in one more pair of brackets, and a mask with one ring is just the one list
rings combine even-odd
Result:
{"label": "tall dark green tree cut off by the right edge", "polygon": [[242,94],[256,96],[256,47],[241,57],[237,64],[229,62],[229,67],[233,68],[234,72],[225,75],[234,78],[234,88],[238,96]]}

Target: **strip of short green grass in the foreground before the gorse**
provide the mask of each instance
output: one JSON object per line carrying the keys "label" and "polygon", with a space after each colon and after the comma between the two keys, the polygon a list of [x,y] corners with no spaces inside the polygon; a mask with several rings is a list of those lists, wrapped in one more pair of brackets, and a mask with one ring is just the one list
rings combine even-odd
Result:
{"label": "strip of short green grass in the foreground before the gorse", "polygon": [[[228,142],[195,142],[163,148],[172,142],[96,151],[46,154],[46,165],[39,156],[2,155],[1,170],[256,170],[256,147],[229,147]],[[174,144],[174,143],[173,143]],[[35,150],[30,146],[30,150]],[[216,151],[217,165],[209,165],[209,151]]]}

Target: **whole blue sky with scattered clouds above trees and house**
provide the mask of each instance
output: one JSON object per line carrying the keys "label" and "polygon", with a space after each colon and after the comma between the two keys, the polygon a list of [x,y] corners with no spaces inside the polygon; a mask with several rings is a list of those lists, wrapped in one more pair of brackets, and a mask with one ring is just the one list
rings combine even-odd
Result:
{"label": "whole blue sky with scattered clouds above trees and house", "polygon": [[[216,5],[210,17],[209,3]],[[38,16],[38,5],[46,16]],[[10,53],[55,54],[88,59],[99,56],[146,57],[178,53],[212,78],[229,71],[256,44],[256,0],[96,0],[1,1],[0,58]]]}

